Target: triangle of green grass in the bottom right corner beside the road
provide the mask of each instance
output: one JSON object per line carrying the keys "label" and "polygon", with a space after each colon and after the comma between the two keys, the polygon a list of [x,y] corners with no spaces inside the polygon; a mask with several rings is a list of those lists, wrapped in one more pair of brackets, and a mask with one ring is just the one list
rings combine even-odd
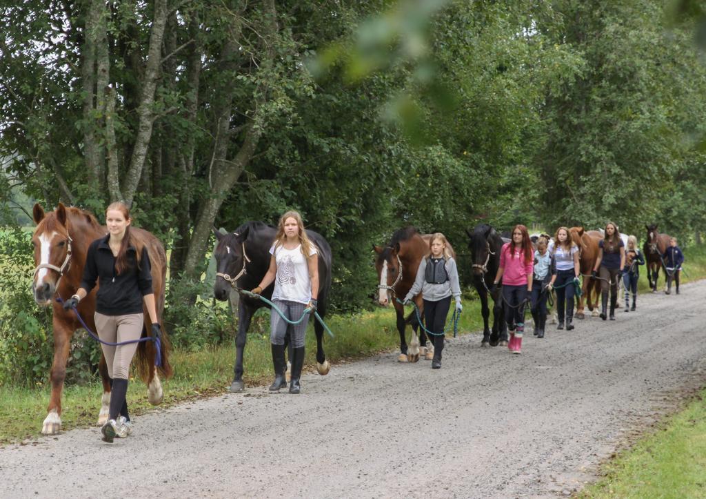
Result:
{"label": "triangle of green grass in the bottom right corner beside the road", "polygon": [[706,390],[604,466],[580,498],[706,497]]}

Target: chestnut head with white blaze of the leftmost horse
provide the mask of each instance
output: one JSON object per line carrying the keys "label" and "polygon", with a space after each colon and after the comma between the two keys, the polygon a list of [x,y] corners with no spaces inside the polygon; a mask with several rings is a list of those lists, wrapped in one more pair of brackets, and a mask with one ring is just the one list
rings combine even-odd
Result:
{"label": "chestnut head with white blaze of the leftmost horse", "polygon": [[50,213],[44,213],[42,206],[35,204],[32,216],[37,224],[32,234],[35,256],[32,295],[37,305],[47,306],[52,303],[61,277],[71,267],[68,217],[66,207],[61,203]]}

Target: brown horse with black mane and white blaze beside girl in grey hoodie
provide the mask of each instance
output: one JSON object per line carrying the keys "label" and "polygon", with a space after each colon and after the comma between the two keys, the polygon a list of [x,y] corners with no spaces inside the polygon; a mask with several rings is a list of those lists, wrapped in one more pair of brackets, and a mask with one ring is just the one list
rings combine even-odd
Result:
{"label": "brown horse with black mane and white blaze beside girl in grey hoodie", "polygon": [[[397,331],[400,333],[400,356],[399,362],[417,362],[419,360],[419,339],[417,339],[417,315],[414,311],[405,319],[405,307],[398,303],[395,298],[404,300],[414,285],[417,278],[417,269],[421,259],[429,254],[429,243],[431,234],[419,234],[413,227],[397,230],[390,244],[386,247],[373,246],[373,250],[378,254],[375,262],[378,271],[378,303],[386,307],[390,302],[395,307],[397,315]],[[450,243],[448,249],[456,259]],[[414,297],[414,303],[419,307],[419,315],[424,317],[424,301],[421,293]],[[407,340],[405,339],[405,327],[407,322],[412,322],[412,340],[409,341],[409,351],[407,351]],[[433,356],[433,346],[426,347],[426,334],[424,330],[419,331],[421,339],[421,354],[427,359]]]}

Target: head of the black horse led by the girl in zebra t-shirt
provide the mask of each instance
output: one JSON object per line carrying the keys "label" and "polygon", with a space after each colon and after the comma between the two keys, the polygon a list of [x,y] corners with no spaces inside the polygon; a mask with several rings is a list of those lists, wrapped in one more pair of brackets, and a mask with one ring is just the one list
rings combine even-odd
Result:
{"label": "head of the black horse led by the girl in zebra t-shirt", "polygon": [[213,295],[216,300],[225,301],[238,279],[246,274],[246,265],[250,262],[246,251],[245,241],[248,238],[249,227],[241,232],[223,234],[213,228],[217,245],[213,256],[216,259],[216,281],[213,286]]}

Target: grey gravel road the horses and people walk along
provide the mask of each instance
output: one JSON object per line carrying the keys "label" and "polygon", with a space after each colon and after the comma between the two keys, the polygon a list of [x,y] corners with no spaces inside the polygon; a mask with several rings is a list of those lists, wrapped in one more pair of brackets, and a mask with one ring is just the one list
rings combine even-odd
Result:
{"label": "grey gravel road the horses and people walk along", "polygon": [[0,496],[569,495],[706,384],[705,297],[706,281],[640,295],[615,322],[526,334],[522,356],[469,334],[441,370],[395,353],[337,365],[298,396],[250,387],[140,416],[112,445],[92,428],[7,446]]}

